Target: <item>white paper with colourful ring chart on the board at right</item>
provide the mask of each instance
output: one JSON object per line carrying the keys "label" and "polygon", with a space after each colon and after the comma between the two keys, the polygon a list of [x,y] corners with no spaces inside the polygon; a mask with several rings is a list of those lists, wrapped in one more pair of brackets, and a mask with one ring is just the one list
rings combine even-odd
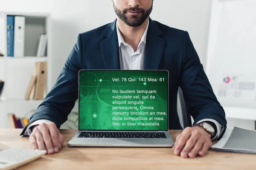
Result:
{"label": "white paper with colourful ring chart on the board at right", "polygon": [[219,74],[217,96],[256,102],[256,75]]}

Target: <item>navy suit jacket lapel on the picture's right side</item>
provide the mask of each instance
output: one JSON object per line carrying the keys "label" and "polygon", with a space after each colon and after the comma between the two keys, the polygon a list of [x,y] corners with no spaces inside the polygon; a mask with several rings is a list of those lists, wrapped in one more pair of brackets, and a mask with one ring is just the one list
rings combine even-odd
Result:
{"label": "navy suit jacket lapel on the picture's right side", "polygon": [[149,18],[145,49],[145,70],[157,70],[159,68],[165,47],[165,40],[159,37],[162,34],[157,24]]}

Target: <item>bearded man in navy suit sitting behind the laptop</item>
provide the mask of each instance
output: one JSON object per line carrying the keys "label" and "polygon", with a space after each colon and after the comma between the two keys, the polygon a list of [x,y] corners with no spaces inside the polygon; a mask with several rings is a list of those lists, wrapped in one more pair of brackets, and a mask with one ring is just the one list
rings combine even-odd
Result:
{"label": "bearded man in navy suit sitting behind the laptop", "polygon": [[169,128],[182,129],[177,115],[177,90],[183,90],[193,127],[177,136],[172,150],[177,156],[204,156],[212,139],[225,128],[225,113],[204,73],[186,31],[149,18],[153,0],[112,0],[117,19],[79,34],[57,82],[47,94],[21,135],[30,135],[35,149],[57,153],[63,145],[58,128],[78,98],[80,69],[168,70]]}

